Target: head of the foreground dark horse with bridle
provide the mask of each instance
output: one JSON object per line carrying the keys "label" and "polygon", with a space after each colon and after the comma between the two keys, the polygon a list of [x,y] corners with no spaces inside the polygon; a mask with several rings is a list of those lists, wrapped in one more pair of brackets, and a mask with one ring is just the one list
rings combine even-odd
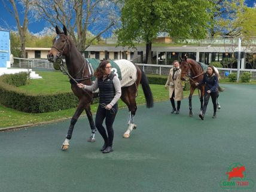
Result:
{"label": "head of the foreground dark horse with bridle", "polygon": [[65,55],[69,51],[69,38],[66,31],[66,27],[63,25],[63,32],[60,31],[58,26],[55,27],[57,36],[53,39],[53,46],[47,54],[47,58],[50,62],[58,62],[62,59],[62,55]]}

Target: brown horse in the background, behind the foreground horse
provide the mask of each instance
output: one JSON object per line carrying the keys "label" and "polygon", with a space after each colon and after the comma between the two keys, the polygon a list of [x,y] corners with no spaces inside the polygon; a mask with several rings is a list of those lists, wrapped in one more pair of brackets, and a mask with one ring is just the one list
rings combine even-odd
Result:
{"label": "brown horse in the background, behind the foreground horse", "polygon": [[[218,69],[214,67],[214,71],[218,75],[218,78],[220,78]],[[187,78],[189,78],[189,81],[190,81],[190,96],[188,96],[190,117],[192,117],[193,115],[192,95],[195,89],[200,90],[200,97],[199,97],[201,102],[200,110],[202,111],[203,109],[203,96],[205,95],[205,85],[202,84],[200,86],[196,86],[196,83],[203,81],[203,74],[205,74],[205,72],[203,71],[201,65],[197,63],[195,60],[187,59],[187,56],[185,56],[184,58],[181,58],[181,80],[186,81]],[[220,86],[218,86],[218,90],[223,91],[220,88]],[[218,103],[218,99],[217,99],[217,107],[218,109],[221,108],[220,104]]]}

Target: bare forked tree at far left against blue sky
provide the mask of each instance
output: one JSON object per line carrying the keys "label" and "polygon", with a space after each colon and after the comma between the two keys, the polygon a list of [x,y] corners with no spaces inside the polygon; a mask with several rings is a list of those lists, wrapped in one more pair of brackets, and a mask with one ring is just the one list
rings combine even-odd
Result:
{"label": "bare forked tree at far left against blue sky", "polygon": [[20,38],[20,57],[25,58],[26,57],[26,32],[28,30],[28,13],[29,13],[29,0],[22,0],[20,1],[25,9],[24,16],[23,16],[23,25],[20,23],[20,14],[17,10],[17,5],[14,0],[9,0],[10,4],[12,6],[12,9],[5,4],[5,1],[2,0],[2,3],[4,4],[5,8],[14,16],[17,24],[17,29],[19,32],[19,38]]}

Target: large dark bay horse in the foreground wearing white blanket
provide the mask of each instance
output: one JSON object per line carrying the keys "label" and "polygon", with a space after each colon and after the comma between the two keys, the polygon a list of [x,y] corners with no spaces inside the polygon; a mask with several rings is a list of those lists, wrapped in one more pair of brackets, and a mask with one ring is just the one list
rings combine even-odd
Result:
{"label": "large dark bay horse in the foreground wearing white blanket", "polygon": [[[92,112],[90,110],[90,103],[93,99],[93,93],[80,89],[77,86],[77,83],[92,85],[93,69],[92,66],[90,66],[88,60],[84,59],[81,53],[77,50],[74,42],[72,42],[72,40],[68,37],[65,26],[63,26],[63,32],[60,31],[60,29],[56,26],[56,33],[57,36],[56,38],[54,38],[53,47],[51,47],[51,50],[47,55],[48,60],[50,62],[60,63],[62,61],[62,56],[65,56],[66,67],[68,68],[68,72],[66,73],[69,75],[69,78],[71,78],[71,89],[74,95],[77,96],[79,99],[75,114],[71,118],[68,134],[66,135],[66,139],[62,145],[62,150],[66,150],[69,147],[69,140],[72,137],[75,123],[77,122],[78,118],[84,110],[86,111],[90,127],[92,129],[92,135],[90,136],[90,139],[88,141],[95,141],[96,127],[93,121]],[[133,65],[133,63],[129,62],[128,60],[120,60],[120,62],[117,61],[117,63],[123,63],[123,66],[126,67],[126,71],[128,72],[132,72],[135,70],[135,73],[132,74],[135,75],[135,78],[133,78],[134,82],[130,85],[123,83],[124,86],[121,87],[121,100],[126,103],[129,109],[129,115],[127,120],[129,126],[123,137],[129,138],[130,132],[133,129],[136,129],[136,124],[133,123],[133,119],[137,109],[135,97],[138,92],[139,83],[141,83],[142,85],[148,108],[151,108],[154,105],[153,95],[144,71],[142,71],[138,66]],[[112,68],[112,70],[113,69],[115,68]],[[132,78],[132,75],[129,75],[129,78]],[[122,85],[122,81],[120,82]]]}

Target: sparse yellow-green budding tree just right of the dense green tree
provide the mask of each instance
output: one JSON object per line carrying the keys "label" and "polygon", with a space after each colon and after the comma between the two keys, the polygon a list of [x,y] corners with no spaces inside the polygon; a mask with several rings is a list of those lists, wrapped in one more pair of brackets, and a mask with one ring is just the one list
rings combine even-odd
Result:
{"label": "sparse yellow-green budding tree just right of the dense green tree", "polygon": [[209,0],[212,9],[210,36],[240,36],[239,15],[246,10],[245,0]]}

